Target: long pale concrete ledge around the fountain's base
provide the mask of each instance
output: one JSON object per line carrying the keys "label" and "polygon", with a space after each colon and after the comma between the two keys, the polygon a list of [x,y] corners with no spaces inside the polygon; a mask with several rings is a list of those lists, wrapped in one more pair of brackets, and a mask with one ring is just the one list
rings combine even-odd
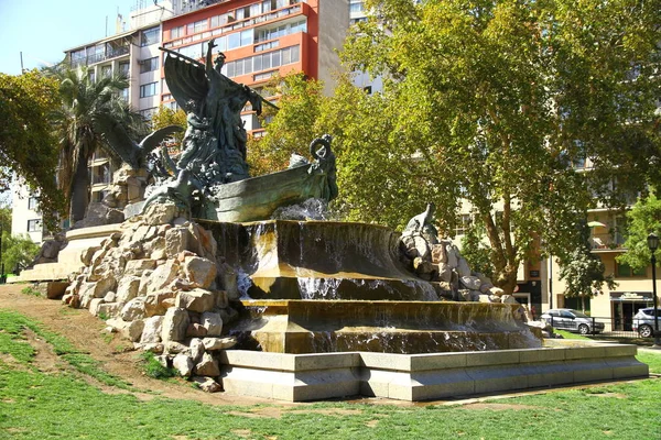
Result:
{"label": "long pale concrete ledge around the fountain's base", "polygon": [[226,392],[289,402],[364,395],[429,400],[649,376],[633,345],[467,353],[224,351]]}

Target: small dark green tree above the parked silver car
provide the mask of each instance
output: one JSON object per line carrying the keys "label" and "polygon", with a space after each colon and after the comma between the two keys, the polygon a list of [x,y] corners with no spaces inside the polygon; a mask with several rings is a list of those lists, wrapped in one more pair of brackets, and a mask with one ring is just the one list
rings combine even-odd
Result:
{"label": "small dark green tree above the parked silver car", "polygon": [[565,280],[564,296],[579,297],[585,312],[585,298],[600,293],[604,283],[609,289],[614,289],[616,284],[613,276],[605,275],[602,258],[592,252],[589,229],[585,222],[579,228],[579,234],[576,248],[560,261],[560,278]]}

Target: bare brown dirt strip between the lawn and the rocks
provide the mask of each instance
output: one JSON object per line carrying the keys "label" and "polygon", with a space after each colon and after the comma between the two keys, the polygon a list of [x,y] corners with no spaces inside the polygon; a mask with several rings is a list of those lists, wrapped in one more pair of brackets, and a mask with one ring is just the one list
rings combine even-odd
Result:
{"label": "bare brown dirt strip between the lawn and the rocks", "polygon": [[[139,369],[139,361],[136,359],[138,352],[127,350],[132,346],[131,342],[122,340],[118,334],[112,334],[112,339],[110,339],[110,336],[102,333],[101,330],[106,326],[99,318],[89,315],[87,310],[72,309],[64,306],[59,300],[22,294],[21,290],[23,288],[25,288],[25,285],[8,284],[0,286],[0,309],[19,311],[42,322],[48,330],[66,337],[76,348],[100,361],[104,370],[107,372],[123,378],[136,388],[150,392],[149,394],[138,393],[141,398],[152,398],[159,395],[170,398],[197,400],[212,405],[245,406],[277,404],[283,407],[304,405],[275,403],[274,400],[235,396],[226,393],[207,394],[183,382],[182,384],[176,384],[148,377]],[[29,339],[35,339],[34,333],[29,332],[26,336]],[[46,356],[48,349],[40,346],[43,342],[39,341],[39,339],[30,342],[36,345],[37,352],[43,353],[42,356]],[[44,373],[56,371],[55,360],[51,359],[43,363],[40,362],[40,370],[43,370]],[[106,389],[108,387],[100,387],[107,392],[117,392],[116,389]]]}

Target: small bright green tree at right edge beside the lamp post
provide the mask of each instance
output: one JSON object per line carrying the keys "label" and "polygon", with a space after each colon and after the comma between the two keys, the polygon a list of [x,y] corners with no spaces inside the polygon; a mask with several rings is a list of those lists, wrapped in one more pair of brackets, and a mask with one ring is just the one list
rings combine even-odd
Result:
{"label": "small bright green tree at right edge beside the lamp post", "polygon": [[661,237],[661,200],[654,190],[646,198],[639,198],[627,212],[627,252],[619,255],[617,261],[636,270],[647,267],[652,256],[647,244],[650,232]]}

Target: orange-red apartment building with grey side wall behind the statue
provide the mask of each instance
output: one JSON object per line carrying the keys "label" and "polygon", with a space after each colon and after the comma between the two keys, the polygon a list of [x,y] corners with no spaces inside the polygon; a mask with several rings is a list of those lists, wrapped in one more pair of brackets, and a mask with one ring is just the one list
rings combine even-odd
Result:
{"label": "orange-red apartment building with grey side wall behind the statue", "polygon": [[[340,48],[349,24],[345,0],[226,0],[174,2],[176,14],[163,21],[163,46],[203,61],[215,38],[214,57],[226,56],[223,74],[258,91],[274,75],[302,72],[323,80],[325,92],[334,87]],[[161,100],[176,108],[161,78]],[[247,108],[246,130],[260,135],[262,128]]]}

